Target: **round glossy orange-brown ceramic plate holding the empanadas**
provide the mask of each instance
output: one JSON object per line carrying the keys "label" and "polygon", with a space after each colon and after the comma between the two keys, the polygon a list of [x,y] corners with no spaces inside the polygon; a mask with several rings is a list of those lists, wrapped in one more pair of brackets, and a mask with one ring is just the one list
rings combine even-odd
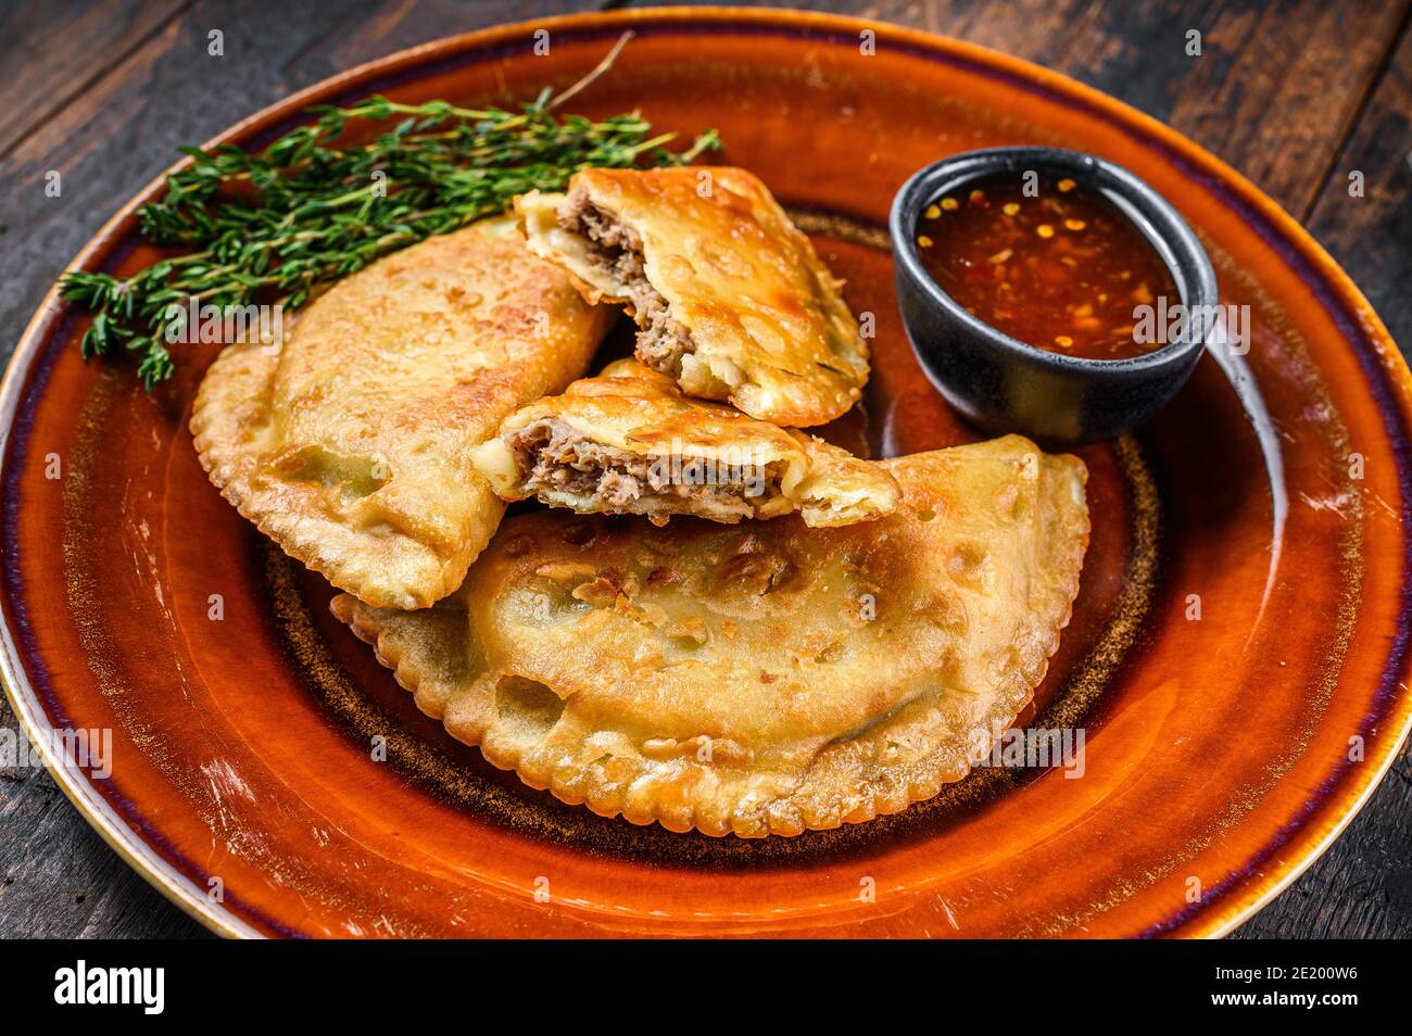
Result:
{"label": "round glossy orange-brown ceramic plate holding the empanadas", "polygon": [[[634,28],[576,103],[717,127],[875,313],[866,436],[973,438],[898,323],[888,203],[942,155],[1060,144],[1130,167],[1250,305],[1241,392],[1204,359],[1135,440],[1084,450],[1093,545],[1031,717],[1082,727],[1086,769],[987,769],[907,813],[741,841],[604,820],[524,788],[414,709],[206,481],[189,406],[206,349],[147,397],[79,359],[55,296],[3,390],[4,676],[51,765],[112,730],[69,797],[134,867],[232,934],[1152,936],[1230,930],[1309,865],[1412,718],[1408,371],[1330,258],[1236,172],[1052,72],[922,32],[788,11],[645,10],[446,40],[230,130],[257,145],[316,102],[384,92],[511,104]],[[532,31],[552,49],[532,55]],[[860,32],[875,31],[875,52]],[[151,258],[133,212],[75,267]],[[58,477],[49,477],[58,476]],[[223,617],[212,618],[212,596]],[[385,738],[387,761],[374,759]],[[383,742],[377,742],[383,744]]]}

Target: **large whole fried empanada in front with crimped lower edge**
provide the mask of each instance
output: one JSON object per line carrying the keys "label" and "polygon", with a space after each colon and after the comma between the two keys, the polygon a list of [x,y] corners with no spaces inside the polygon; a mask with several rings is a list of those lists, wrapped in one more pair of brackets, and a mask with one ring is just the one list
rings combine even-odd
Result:
{"label": "large whole fried empanada in front with crimped lower edge", "polygon": [[459,593],[335,598],[424,711],[569,803],[798,834],[959,781],[1034,694],[1079,590],[1087,473],[1008,436],[881,462],[885,518],[511,518]]}

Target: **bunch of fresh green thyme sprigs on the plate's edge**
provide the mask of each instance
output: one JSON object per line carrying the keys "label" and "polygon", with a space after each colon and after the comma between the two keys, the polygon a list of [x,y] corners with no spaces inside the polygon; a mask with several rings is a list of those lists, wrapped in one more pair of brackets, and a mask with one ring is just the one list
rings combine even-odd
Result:
{"label": "bunch of fresh green thyme sprigs on the plate's edge", "polygon": [[[223,311],[273,299],[297,309],[328,281],[504,212],[515,195],[561,191],[579,169],[681,165],[720,147],[707,131],[672,152],[665,144],[675,134],[652,135],[637,113],[562,117],[554,112],[558,100],[545,92],[511,113],[374,96],[353,107],[313,109],[315,124],[258,154],[233,145],[182,148],[191,164],[167,178],[167,193],[143,206],[138,219],[145,239],[184,254],[127,278],[86,271],[64,278],[64,298],[93,313],[83,356],[119,347],[137,353],[137,373],[151,390],[174,368],[169,306],[195,298]],[[353,120],[394,117],[395,126],[369,144],[336,144]]]}

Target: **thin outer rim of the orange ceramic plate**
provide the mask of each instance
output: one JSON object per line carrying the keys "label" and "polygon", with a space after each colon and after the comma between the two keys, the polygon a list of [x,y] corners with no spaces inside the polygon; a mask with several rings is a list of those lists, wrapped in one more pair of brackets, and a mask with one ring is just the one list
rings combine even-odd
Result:
{"label": "thin outer rim of the orange ceramic plate", "polygon": [[[1391,387],[1396,390],[1389,394],[1388,405],[1396,412],[1405,426],[1412,423],[1409,421],[1412,418],[1412,373],[1409,373],[1406,360],[1398,350],[1382,319],[1377,315],[1377,311],[1317,239],[1275,199],[1261,191],[1234,167],[1155,117],[1066,73],[980,44],[878,18],[861,18],[786,7],[682,6],[585,11],[487,25],[470,32],[439,37],[395,51],[311,83],[282,100],[267,104],[233,123],[202,144],[202,148],[209,150],[239,137],[267,133],[280,127],[281,123],[298,119],[311,103],[346,92],[359,82],[387,78],[404,68],[435,62],[438,58],[453,58],[467,49],[489,49],[497,42],[518,40],[530,27],[549,31],[556,28],[572,31],[593,28],[631,30],[637,25],[648,24],[664,25],[666,28],[700,24],[723,27],[748,25],[785,31],[803,28],[853,35],[857,35],[863,30],[873,30],[880,35],[885,32],[902,41],[911,49],[942,58],[955,58],[971,66],[1000,71],[1017,82],[1031,83],[1067,100],[1080,102],[1089,109],[1096,110],[1111,126],[1134,133],[1139,138],[1155,140],[1182,159],[1190,162],[1195,168],[1211,172],[1224,189],[1233,192],[1240,202],[1268,220],[1293,246],[1296,254],[1309,263],[1324,285],[1333,291],[1337,302],[1360,313],[1360,330],[1370,342],[1378,346],[1375,359]],[[113,240],[120,234],[126,234],[128,224],[136,219],[137,209],[161,193],[167,176],[189,164],[191,158],[184,157],[148,181],[83,244],[73,260],[55,278],[54,285],[45,292],[38,309],[25,325],[6,364],[4,377],[0,380],[0,470],[3,470],[8,456],[10,432],[14,426],[20,404],[25,397],[31,368],[35,360],[42,356],[42,346],[48,339],[48,332],[54,322],[64,315],[64,303],[59,298],[59,282],[64,274],[83,270],[95,257],[106,254]],[[1409,500],[1404,497],[1401,502],[1404,504],[1404,514],[1399,515],[1399,522],[1404,528],[1404,538],[1406,538],[1405,511]],[[1409,576],[1412,573],[1405,566],[1405,587],[1412,582]],[[1399,757],[1409,733],[1412,733],[1412,690],[1408,689],[1409,673],[1412,673],[1412,652],[1404,655],[1401,665],[1402,680],[1399,680],[1399,685],[1402,693],[1389,706],[1389,720],[1395,724],[1396,730],[1392,735],[1381,740],[1381,758],[1372,766],[1364,765],[1356,775],[1347,778],[1347,786],[1341,789],[1341,800],[1340,792],[1333,793],[1330,806],[1337,809],[1337,816],[1332,821],[1326,821],[1322,829],[1306,826],[1298,831],[1286,843],[1286,848],[1291,844],[1296,847],[1296,858],[1285,862],[1281,872],[1275,872],[1271,878],[1265,879],[1260,877],[1247,878],[1243,882],[1244,888],[1234,896],[1224,898],[1223,903],[1202,910],[1190,920],[1183,922],[1183,934],[1193,937],[1223,937],[1228,934],[1288,889],[1343,834],[1381,785],[1388,769],[1391,769]],[[0,613],[0,683],[4,686],[6,697],[21,730],[30,740],[30,744],[38,751],[51,778],[79,814],[127,865],[136,869],[184,913],[216,934],[225,937],[264,937],[263,932],[232,913],[223,905],[212,902],[201,889],[192,885],[185,875],[179,874],[113,813],[107,802],[86,778],[76,776],[65,761],[58,757],[51,738],[47,735],[49,727],[42,717],[42,710],[41,714],[34,711],[34,709],[40,707],[38,697],[30,685],[23,661],[16,649],[13,631],[3,613]],[[1300,841],[1305,844],[1300,845]]]}

